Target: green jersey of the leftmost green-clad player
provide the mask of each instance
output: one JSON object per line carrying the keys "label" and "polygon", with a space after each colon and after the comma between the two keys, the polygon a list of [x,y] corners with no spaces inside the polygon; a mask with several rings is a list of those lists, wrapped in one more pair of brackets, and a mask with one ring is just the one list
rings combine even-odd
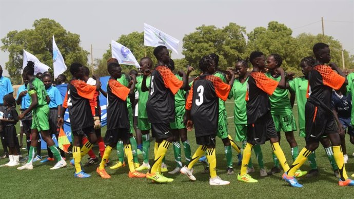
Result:
{"label": "green jersey of the leftmost green-clad player", "polygon": [[[37,107],[48,105],[47,98],[46,98],[46,96],[48,96],[48,93],[41,79],[38,79],[37,77],[31,79],[27,85],[27,90],[29,95],[32,95],[34,93],[37,95],[37,99],[38,99]],[[32,103],[32,97],[30,102]]]}

